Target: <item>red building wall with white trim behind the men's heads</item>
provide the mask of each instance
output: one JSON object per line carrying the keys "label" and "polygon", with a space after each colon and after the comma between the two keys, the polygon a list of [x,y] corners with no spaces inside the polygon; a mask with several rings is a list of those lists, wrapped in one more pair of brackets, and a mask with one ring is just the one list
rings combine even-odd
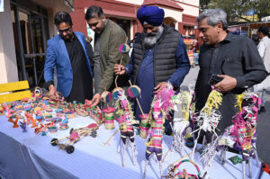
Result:
{"label": "red building wall with white trim behind the men's heads", "polygon": [[164,23],[174,27],[182,35],[197,37],[196,18],[199,15],[199,0],[76,0],[74,13],[71,13],[75,31],[81,31],[85,36],[94,37],[85,20],[85,11],[91,5],[103,8],[106,17],[117,22],[126,31],[129,40],[142,27],[136,14],[141,5],[155,5],[165,11]]}

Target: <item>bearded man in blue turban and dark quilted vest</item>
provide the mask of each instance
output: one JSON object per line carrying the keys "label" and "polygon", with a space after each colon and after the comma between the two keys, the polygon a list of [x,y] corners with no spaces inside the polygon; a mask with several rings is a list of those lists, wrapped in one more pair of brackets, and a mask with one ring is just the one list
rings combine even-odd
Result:
{"label": "bearded man in blue turban and dark quilted vest", "polygon": [[[130,63],[126,67],[114,66],[116,75],[130,75],[132,83],[139,85],[139,103],[144,113],[150,111],[154,94],[166,82],[178,89],[190,69],[184,40],[174,28],[162,24],[164,15],[164,10],[157,6],[143,5],[139,8],[137,18],[143,31],[135,39]],[[139,120],[138,104],[135,104],[134,113]]]}

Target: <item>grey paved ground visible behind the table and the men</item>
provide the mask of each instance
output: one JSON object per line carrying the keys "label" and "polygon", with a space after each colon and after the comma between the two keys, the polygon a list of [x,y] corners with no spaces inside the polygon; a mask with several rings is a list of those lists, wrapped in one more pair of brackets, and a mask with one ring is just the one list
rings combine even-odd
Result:
{"label": "grey paved ground visible behind the table and the men", "polygon": [[[195,85],[199,67],[191,68],[185,76],[181,89],[187,89],[188,85]],[[270,90],[266,91],[266,112],[258,115],[257,121],[257,151],[258,156],[270,164]]]}

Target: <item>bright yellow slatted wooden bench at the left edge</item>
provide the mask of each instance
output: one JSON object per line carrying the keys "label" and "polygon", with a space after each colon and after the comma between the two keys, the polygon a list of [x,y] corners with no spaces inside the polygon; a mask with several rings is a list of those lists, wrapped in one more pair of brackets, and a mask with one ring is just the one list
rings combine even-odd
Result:
{"label": "bright yellow slatted wooden bench at the left edge", "polygon": [[[0,84],[0,103],[13,102],[22,100],[25,97],[31,97],[31,92],[28,89],[29,89],[28,81]],[[6,92],[12,93],[6,94]]]}

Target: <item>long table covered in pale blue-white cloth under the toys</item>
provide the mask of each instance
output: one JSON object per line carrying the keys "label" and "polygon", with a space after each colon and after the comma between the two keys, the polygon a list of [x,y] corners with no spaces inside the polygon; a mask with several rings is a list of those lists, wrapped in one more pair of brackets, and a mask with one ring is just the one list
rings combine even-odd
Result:
{"label": "long table covered in pale blue-white cloth under the toys", "polygon": [[[68,126],[78,128],[86,126],[94,120],[89,117],[76,117],[70,119]],[[118,123],[115,122],[118,128]],[[13,123],[7,121],[4,116],[0,116],[0,175],[4,179],[16,178],[141,178],[145,167],[145,140],[136,136],[137,146],[136,166],[133,166],[131,160],[130,147],[125,152],[125,166],[121,166],[121,155],[117,154],[117,144],[120,139],[120,132],[114,136],[110,143],[104,147],[104,143],[116,130],[105,130],[104,125],[97,130],[97,137],[87,136],[80,139],[75,145],[75,151],[67,154],[65,150],[58,149],[58,146],[50,145],[52,138],[63,138],[69,135],[68,130],[58,130],[57,133],[48,133],[47,136],[34,134],[30,125],[27,126],[28,132],[23,133],[21,128],[13,128]],[[163,156],[172,143],[172,137],[164,136]],[[184,149],[184,156],[190,153],[190,148]],[[229,153],[226,157],[232,157],[235,154]],[[201,168],[198,160],[199,154],[196,153],[194,161]],[[174,152],[166,157],[163,164],[163,173],[166,174],[166,167],[174,163],[181,156]],[[253,178],[258,178],[260,167],[256,166],[256,160],[252,161]],[[180,166],[185,168],[190,174],[197,174],[195,168],[184,163]],[[248,166],[246,166],[248,168]],[[242,177],[242,165],[233,165],[229,160],[225,166],[220,164],[219,159],[214,159],[211,168],[208,170],[209,178],[235,178]],[[248,171],[248,169],[247,169]],[[156,156],[150,158],[146,178],[159,178],[159,167]],[[207,178],[207,177],[206,177]],[[248,176],[247,176],[248,178]]]}

